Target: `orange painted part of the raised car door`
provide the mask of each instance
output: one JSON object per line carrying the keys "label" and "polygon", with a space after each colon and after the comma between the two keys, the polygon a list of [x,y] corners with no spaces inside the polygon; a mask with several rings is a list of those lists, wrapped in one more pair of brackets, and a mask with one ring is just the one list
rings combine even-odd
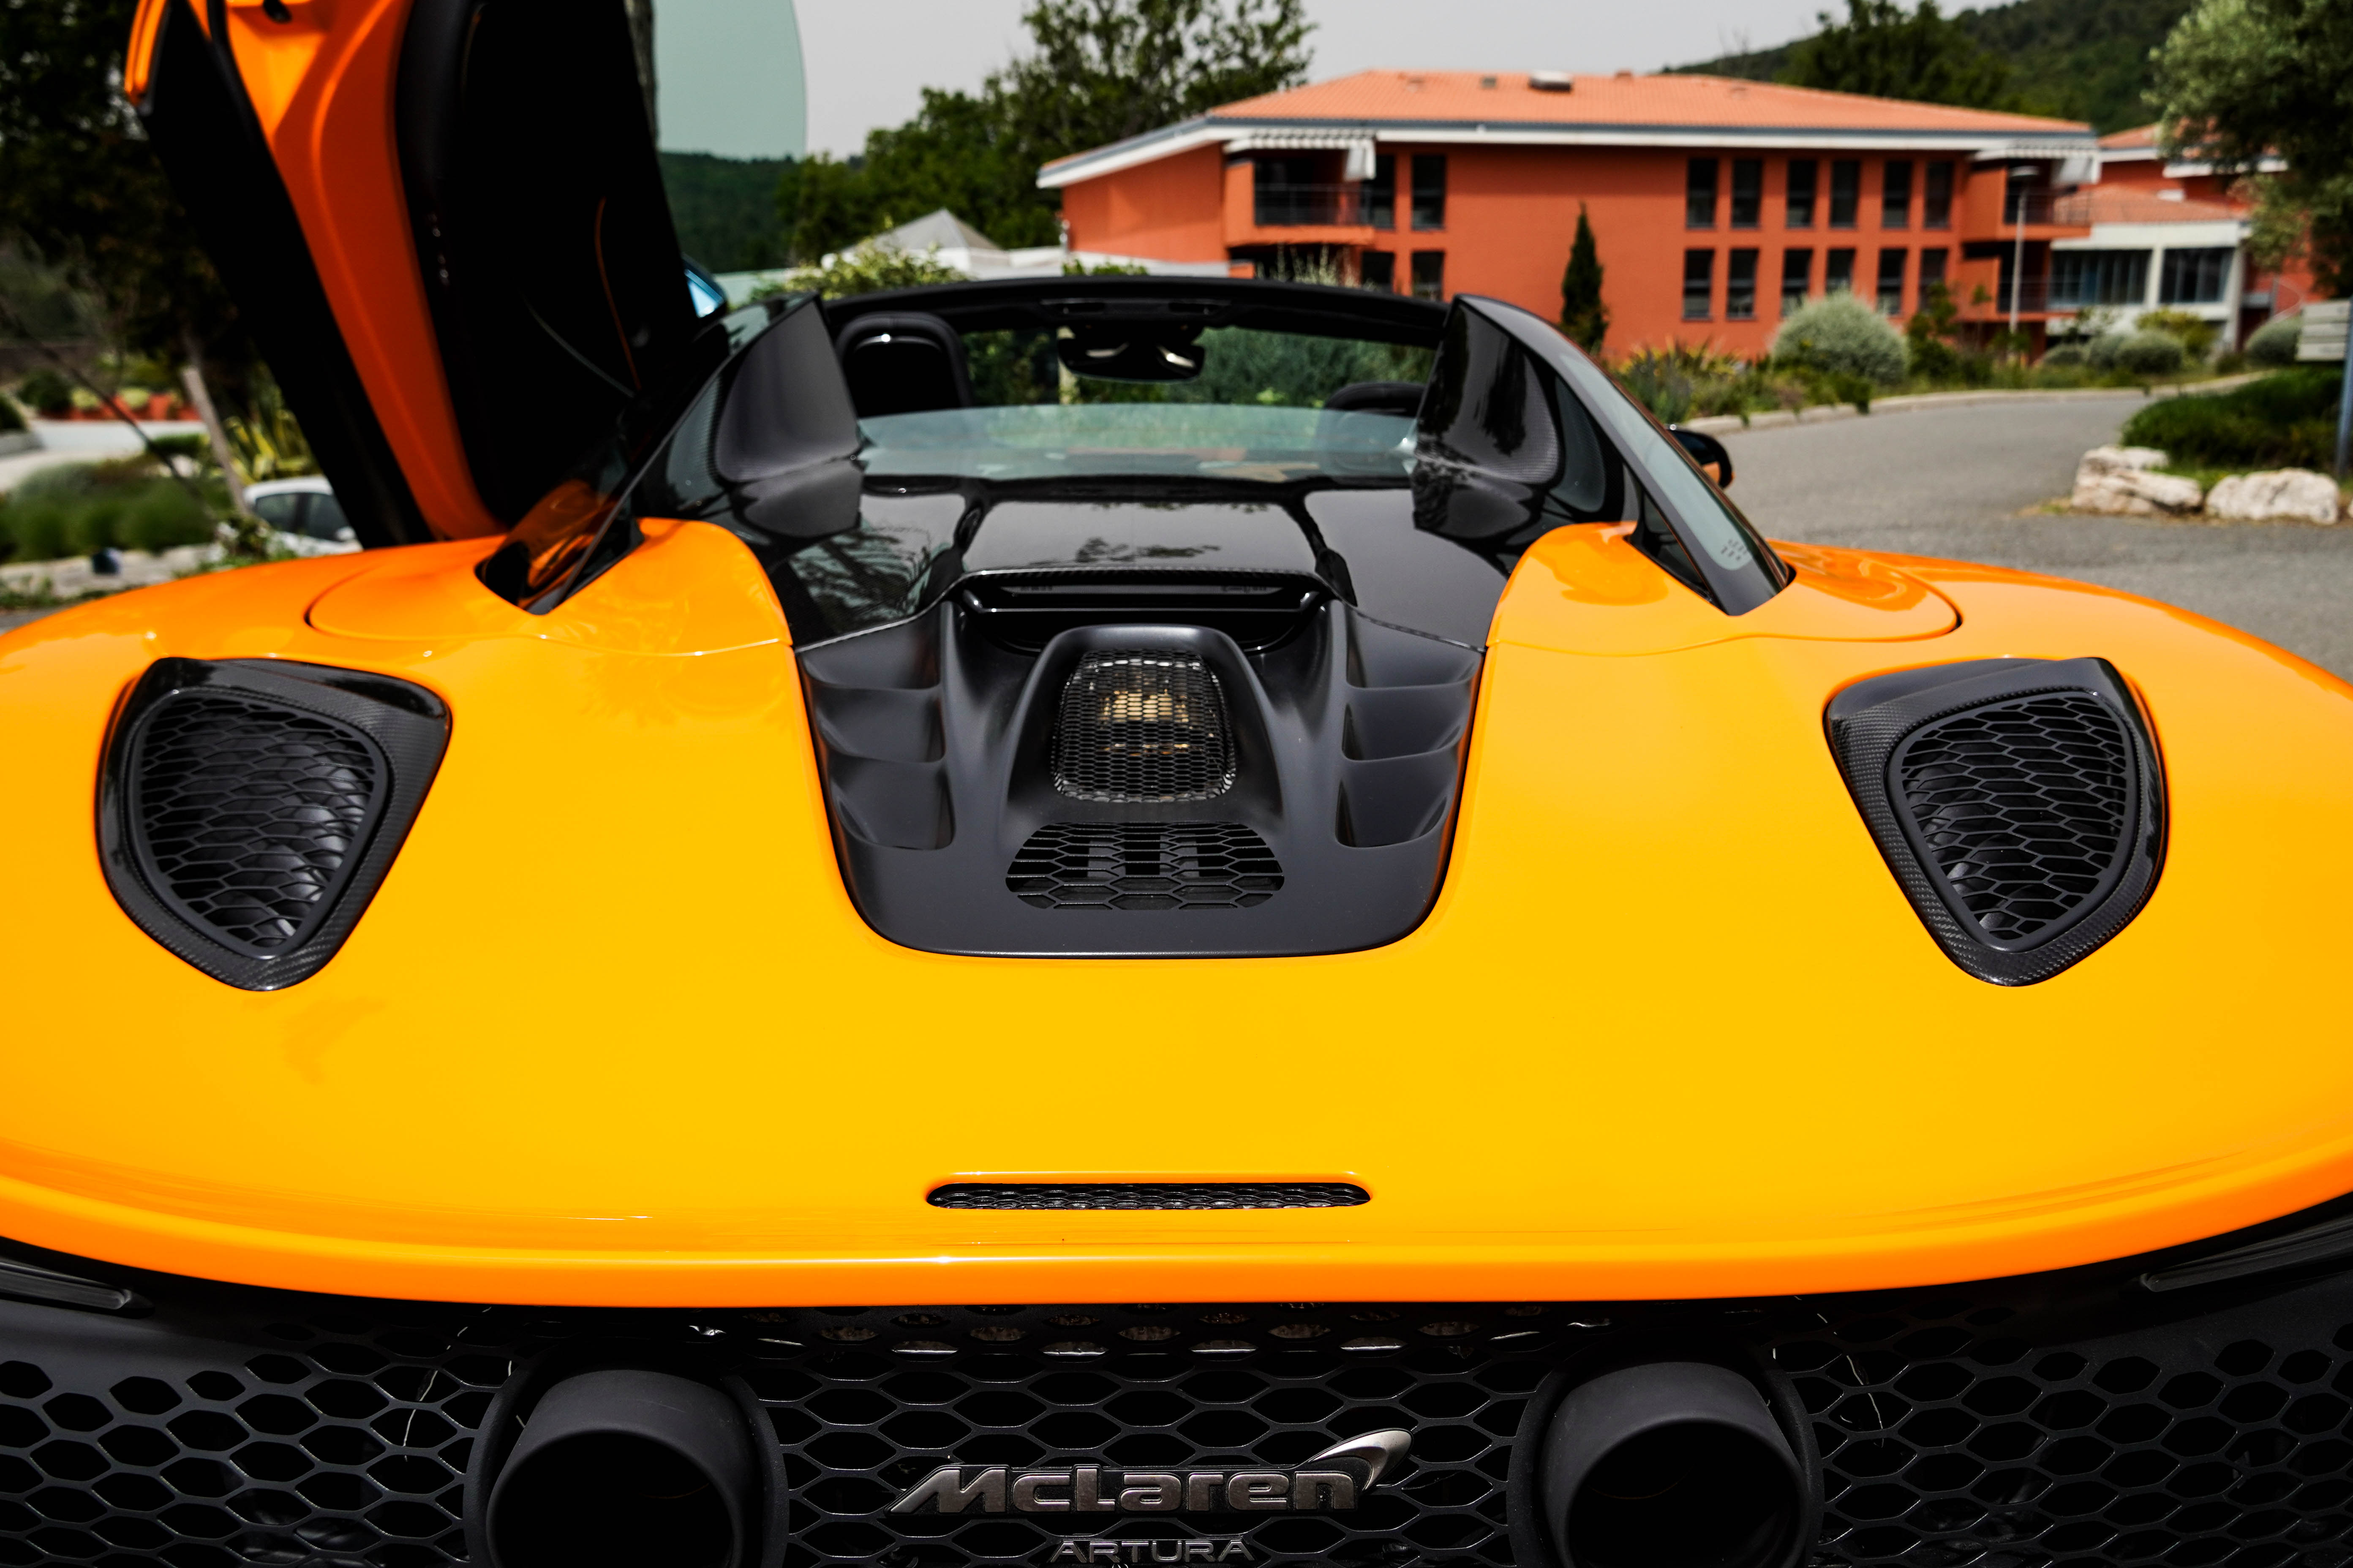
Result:
{"label": "orange painted part of the raised car door", "polygon": [[[162,9],[144,0],[132,28],[134,96]],[[459,442],[393,141],[409,0],[287,0],[285,9],[287,21],[271,21],[261,0],[231,0],[228,45],[334,322],[433,531],[499,534]]]}

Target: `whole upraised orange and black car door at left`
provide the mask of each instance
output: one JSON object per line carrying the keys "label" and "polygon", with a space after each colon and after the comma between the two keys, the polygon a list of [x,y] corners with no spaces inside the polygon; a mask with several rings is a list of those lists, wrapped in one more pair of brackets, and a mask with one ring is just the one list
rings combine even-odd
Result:
{"label": "whole upraised orange and black car door at left", "polygon": [[504,531],[694,329],[621,0],[144,0],[125,87],[367,543]]}

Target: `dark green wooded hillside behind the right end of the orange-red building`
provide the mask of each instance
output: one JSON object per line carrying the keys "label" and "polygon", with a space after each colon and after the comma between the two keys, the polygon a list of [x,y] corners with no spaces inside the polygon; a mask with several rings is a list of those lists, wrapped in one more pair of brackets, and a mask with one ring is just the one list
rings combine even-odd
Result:
{"label": "dark green wooded hillside behind the right end of the orange-red building", "polygon": [[[2148,52],[2193,0],[2017,0],[1969,9],[1953,21],[1981,47],[2009,63],[2002,103],[2059,120],[2089,120],[2099,132],[2148,125],[2141,101],[2148,87]],[[1675,71],[1774,80],[1788,66],[1791,45],[1727,54]]]}

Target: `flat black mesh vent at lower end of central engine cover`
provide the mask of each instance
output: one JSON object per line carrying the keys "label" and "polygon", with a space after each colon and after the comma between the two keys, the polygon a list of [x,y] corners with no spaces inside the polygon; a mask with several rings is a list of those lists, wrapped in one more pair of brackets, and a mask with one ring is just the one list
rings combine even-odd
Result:
{"label": "flat black mesh vent at lower end of central engine cover", "polygon": [[1040,910],[1247,910],[1282,863],[1240,823],[1047,823],[1005,886]]}

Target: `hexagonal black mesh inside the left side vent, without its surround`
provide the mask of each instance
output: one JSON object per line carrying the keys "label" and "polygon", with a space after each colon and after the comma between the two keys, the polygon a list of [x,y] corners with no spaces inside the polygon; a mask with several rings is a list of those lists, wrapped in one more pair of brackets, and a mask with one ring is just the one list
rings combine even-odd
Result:
{"label": "hexagonal black mesh inside the left side vent, without its surround", "polygon": [[376,745],[348,724],[221,691],[158,703],[139,733],[141,872],[176,912],[252,954],[325,919],[384,797]]}

